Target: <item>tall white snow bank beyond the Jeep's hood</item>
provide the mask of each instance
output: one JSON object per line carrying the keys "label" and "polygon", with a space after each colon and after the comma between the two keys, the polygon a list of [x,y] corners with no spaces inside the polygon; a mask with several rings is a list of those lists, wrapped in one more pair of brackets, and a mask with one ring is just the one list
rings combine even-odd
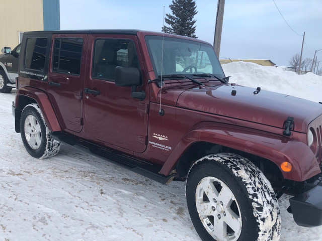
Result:
{"label": "tall white snow bank beyond the Jeep's hood", "polygon": [[313,73],[298,75],[283,67],[267,67],[247,62],[232,62],[222,65],[229,82],[249,87],[296,96],[303,99],[322,101],[322,76]]}

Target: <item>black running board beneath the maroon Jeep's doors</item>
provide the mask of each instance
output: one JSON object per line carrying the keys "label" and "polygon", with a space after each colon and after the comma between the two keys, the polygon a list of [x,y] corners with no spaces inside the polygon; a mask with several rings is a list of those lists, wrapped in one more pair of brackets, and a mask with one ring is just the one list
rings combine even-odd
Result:
{"label": "black running board beneath the maroon Jeep's doors", "polygon": [[77,150],[81,150],[83,152],[90,153],[97,157],[103,158],[109,162],[117,164],[121,167],[124,167],[156,182],[168,184],[174,178],[173,175],[165,176],[159,174],[158,171],[161,169],[160,167],[143,162],[141,160],[133,159],[122,154],[112,152],[107,148],[101,147],[99,145],[85,140],[76,139],[71,135],[62,132],[52,132],[51,136],[53,139],[64,144],[70,145]]}

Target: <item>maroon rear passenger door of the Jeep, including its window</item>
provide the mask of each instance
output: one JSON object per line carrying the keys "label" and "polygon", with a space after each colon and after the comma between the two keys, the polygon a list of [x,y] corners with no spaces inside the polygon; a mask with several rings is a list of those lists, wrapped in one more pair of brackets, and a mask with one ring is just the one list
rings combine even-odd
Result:
{"label": "maroon rear passenger door of the Jeep, including its window", "polygon": [[48,95],[63,130],[83,128],[82,88],[87,34],[53,35],[48,71]]}

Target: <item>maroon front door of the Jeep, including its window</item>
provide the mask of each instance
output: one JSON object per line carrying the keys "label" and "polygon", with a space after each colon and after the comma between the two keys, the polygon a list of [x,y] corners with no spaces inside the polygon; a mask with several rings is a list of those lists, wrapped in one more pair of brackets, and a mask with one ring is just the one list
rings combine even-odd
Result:
{"label": "maroon front door of the Jeep, including its window", "polygon": [[131,97],[131,87],[115,85],[115,67],[138,68],[143,63],[136,36],[89,36],[86,73],[84,120],[89,135],[105,146],[127,149],[137,153],[146,148],[148,124],[148,90],[143,101]]}

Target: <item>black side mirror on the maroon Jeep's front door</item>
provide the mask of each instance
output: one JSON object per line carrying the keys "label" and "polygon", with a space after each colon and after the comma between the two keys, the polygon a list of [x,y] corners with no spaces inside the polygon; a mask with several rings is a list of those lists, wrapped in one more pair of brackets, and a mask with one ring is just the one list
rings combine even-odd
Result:
{"label": "black side mirror on the maroon Jeep's front door", "polygon": [[145,98],[145,92],[143,90],[136,92],[136,87],[141,84],[140,72],[137,68],[121,66],[115,67],[115,85],[130,86],[132,98],[140,100]]}

